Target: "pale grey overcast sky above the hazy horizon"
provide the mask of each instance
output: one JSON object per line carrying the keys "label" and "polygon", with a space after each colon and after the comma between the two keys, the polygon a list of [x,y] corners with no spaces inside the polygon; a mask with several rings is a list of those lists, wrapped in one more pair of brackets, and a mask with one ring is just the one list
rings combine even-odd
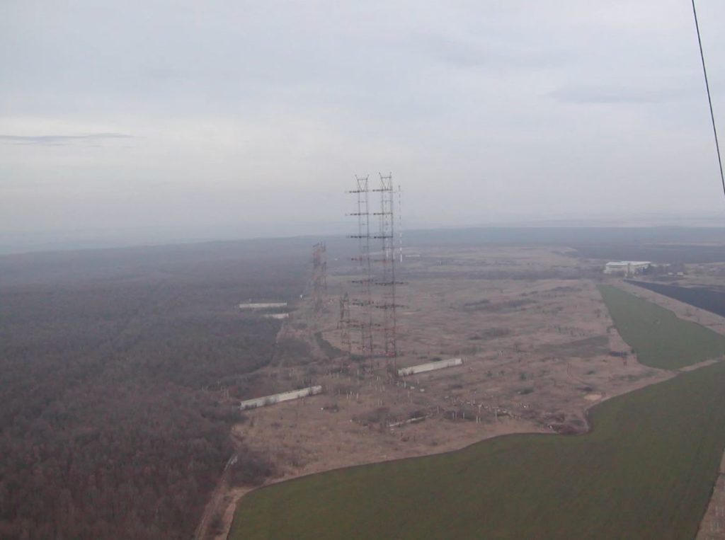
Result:
{"label": "pale grey overcast sky above the hazy horizon", "polygon": [[329,231],[378,172],[409,227],[725,214],[709,122],[689,0],[0,2],[6,241]]}

